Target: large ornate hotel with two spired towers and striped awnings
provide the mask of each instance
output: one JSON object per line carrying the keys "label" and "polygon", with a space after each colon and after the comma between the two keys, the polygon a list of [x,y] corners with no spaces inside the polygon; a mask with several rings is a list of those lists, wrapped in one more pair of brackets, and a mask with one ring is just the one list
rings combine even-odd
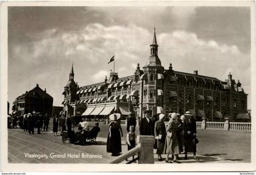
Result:
{"label": "large ornate hotel with two spired towers and striped awnings", "polygon": [[73,65],[65,86],[64,112],[86,117],[107,117],[114,111],[122,115],[143,117],[144,111],[152,115],[160,112],[191,111],[197,120],[223,121],[229,117],[236,121],[247,113],[247,94],[232,75],[221,81],[215,77],[199,75],[197,70],[185,73],[162,66],[158,58],[158,44],[154,31],[146,64],[133,75],[118,77],[111,72],[105,80],[79,87],[74,83]]}

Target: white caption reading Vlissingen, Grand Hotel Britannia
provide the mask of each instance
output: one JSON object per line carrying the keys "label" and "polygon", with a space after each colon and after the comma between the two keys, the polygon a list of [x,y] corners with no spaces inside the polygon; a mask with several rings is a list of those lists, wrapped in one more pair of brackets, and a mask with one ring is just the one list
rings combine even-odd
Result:
{"label": "white caption reading Vlissingen, Grand Hotel Britannia", "polygon": [[24,153],[24,156],[28,159],[36,158],[36,159],[101,159],[101,154],[88,154],[88,153],[63,153],[56,154],[50,153],[48,154],[36,154],[36,153]]}

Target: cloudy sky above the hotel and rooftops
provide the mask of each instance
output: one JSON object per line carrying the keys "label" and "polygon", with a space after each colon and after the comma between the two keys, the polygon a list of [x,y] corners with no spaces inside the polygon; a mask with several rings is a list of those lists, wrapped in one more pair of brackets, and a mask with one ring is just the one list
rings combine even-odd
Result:
{"label": "cloudy sky above the hotel and rooftops", "polygon": [[34,88],[62,106],[71,64],[79,86],[104,81],[113,64],[133,75],[150,54],[154,26],[158,57],[168,69],[240,80],[251,109],[249,7],[9,7],[8,99]]}

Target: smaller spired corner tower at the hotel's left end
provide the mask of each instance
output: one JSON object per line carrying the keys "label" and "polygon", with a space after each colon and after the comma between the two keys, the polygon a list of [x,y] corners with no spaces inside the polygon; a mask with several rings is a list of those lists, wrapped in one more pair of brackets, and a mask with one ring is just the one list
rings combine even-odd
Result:
{"label": "smaller spired corner tower at the hotel's left end", "polygon": [[64,89],[65,89],[65,91],[63,92],[63,95],[65,95],[64,101],[63,101],[63,103],[64,103],[63,105],[64,106],[68,105],[70,103],[73,103],[76,100],[79,100],[79,96],[76,94],[76,92],[78,91],[79,87],[78,87],[77,83],[75,83],[75,81],[74,81],[73,63],[72,63],[71,71],[69,73],[68,83],[66,84]]}

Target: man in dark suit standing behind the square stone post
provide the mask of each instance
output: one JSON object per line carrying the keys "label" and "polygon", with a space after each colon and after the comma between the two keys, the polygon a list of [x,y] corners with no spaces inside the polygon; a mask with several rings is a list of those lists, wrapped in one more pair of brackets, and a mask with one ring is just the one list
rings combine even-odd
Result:
{"label": "man in dark suit standing behind the square stone post", "polygon": [[145,117],[140,122],[140,135],[141,136],[154,136],[154,126],[151,118],[149,118],[150,111],[145,112]]}

